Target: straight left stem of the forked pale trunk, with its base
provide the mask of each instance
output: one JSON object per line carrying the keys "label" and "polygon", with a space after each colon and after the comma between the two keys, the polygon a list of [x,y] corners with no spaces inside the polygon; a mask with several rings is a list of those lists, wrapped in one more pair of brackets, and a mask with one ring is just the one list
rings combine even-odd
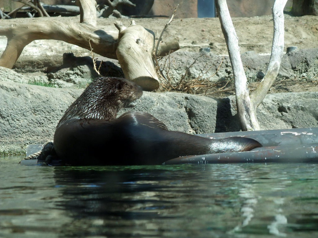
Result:
{"label": "straight left stem of the forked pale trunk, with its base", "polygon": [[226,0],[217,0],[216,8],[232,65],[236,107],[242,130],[260,130],[256,112],[247,88],[247,79],[239,52],[239,39],[236,35]]}

